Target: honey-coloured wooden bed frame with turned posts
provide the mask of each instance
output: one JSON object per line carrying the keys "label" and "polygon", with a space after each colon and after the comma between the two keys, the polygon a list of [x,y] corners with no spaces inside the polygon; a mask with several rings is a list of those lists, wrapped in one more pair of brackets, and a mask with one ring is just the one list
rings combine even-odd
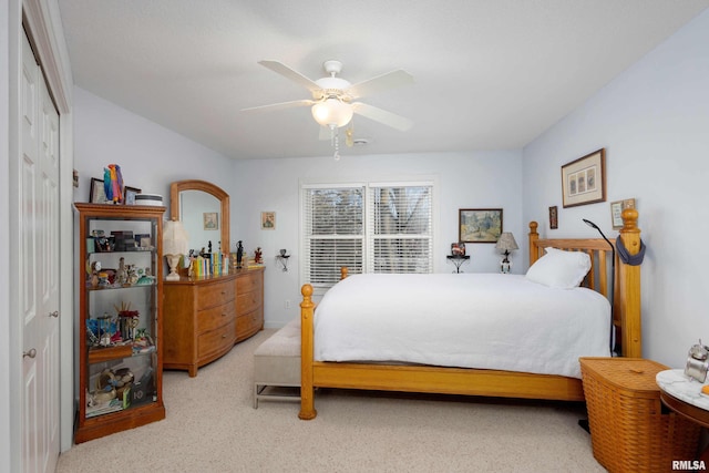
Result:
{"label": "honey-coloured wooden bed frame with turned posts", "polygon": [[[624,227],[620,238],[630,255],[640,249],[638,213],[623,212]],[[530,223],[530,265],[536,261],[546,247],[586,251],[592,256],[592,269],[585,286],[608,297],[607,254],[608,243],[602,238],[542,239],[537,223]],[[617,256],[616,256],[617,259]],[[614,326],[620,353],[624,357],[641,357],[640,341],[640,267],[628,266],[616,260],[614,294]],[[302,420],[315,419],[315,388],[342,388],[379,391],[425,392],[442,394],[467,394],[501,398],[547,399],[584,401],[582,380],[551,374],[532,374],[514,371],[497,371],[432,366],[394,366],[348,362],[314,361],[312,286],[301,288],[301,377],[300,412]]]}

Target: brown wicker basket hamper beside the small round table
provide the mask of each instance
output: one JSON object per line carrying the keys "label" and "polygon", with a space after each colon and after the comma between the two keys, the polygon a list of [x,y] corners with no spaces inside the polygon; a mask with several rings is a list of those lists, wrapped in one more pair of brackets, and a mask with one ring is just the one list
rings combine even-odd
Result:
{"label": "brown wicker basket hamper beside the small round table", "polygon": [[580,358],[594,457],[609,472],[667,472],[696,459],[700,428],[660,402],[664,364],[640,358]]}

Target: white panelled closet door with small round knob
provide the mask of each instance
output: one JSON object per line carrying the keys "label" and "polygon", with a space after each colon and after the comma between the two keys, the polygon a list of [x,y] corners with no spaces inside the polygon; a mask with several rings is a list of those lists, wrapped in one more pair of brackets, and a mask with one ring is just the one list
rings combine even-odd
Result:
{"label": "white panelled closet door with small round knob", "polygon": [[25,472],[59,457],[59,115],[30,43],[22,48],[18,230]]}

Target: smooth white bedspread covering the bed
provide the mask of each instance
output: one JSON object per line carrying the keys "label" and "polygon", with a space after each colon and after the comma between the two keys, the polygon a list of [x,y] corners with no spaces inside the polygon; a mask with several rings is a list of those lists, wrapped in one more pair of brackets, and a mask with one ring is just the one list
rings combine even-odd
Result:
{"label": "smooth white bedspread covering the bed", "polygon": [[608,357],[610,305],[518,275],[354,275],[318,304],[315,359],[398,361],[580,378]]}

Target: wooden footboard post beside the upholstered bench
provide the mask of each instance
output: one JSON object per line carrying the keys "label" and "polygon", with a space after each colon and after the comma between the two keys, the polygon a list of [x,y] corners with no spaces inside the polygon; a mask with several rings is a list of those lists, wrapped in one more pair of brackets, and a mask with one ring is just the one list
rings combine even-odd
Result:
{"label": "wooden footboard post beside the upholstered bench", "polygon": [[309,421],[318,412],[315,410],[315,392],[312,387],[312,286],[304,285],[300,289],[300,412],[298,417]]}

